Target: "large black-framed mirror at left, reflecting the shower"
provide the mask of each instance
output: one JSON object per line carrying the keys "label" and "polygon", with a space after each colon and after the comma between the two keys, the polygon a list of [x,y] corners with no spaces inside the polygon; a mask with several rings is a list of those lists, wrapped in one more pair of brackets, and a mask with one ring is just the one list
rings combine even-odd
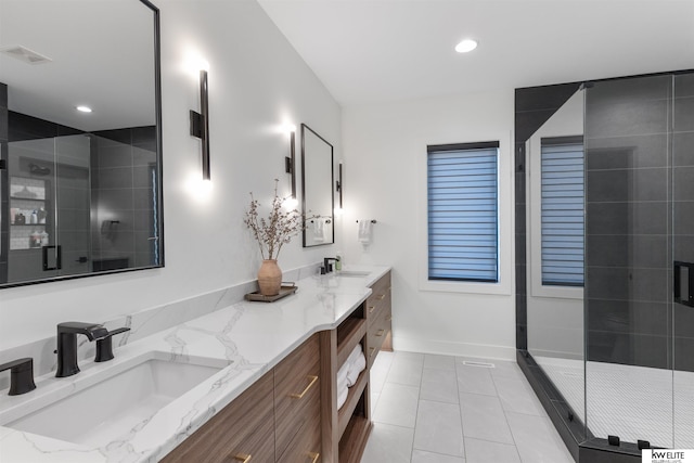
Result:
{"label": "large black-framed mirror at left, reflecting the shower", "polygon": [[0,287],[162,267],[158,10],[0,9]]}

